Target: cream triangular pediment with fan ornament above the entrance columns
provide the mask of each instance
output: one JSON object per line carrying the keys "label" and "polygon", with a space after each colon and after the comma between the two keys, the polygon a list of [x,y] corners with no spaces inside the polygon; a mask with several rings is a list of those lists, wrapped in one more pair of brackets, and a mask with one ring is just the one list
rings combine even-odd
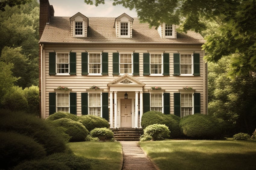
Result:
{"label": "cream triangular pediment with fan ornament above the entrance columns", "polygon": [[109,82],[108,86],[145,86],[145,83],[129,74],[124,74]]}

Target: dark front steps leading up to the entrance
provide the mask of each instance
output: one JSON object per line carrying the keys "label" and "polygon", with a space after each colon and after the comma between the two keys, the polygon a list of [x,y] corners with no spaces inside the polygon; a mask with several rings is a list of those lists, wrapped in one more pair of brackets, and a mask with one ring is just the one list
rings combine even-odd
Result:
{"label": "dark front steps leading up to the entrance", "polygon": [[142,128],[110,128],[114,132],[114,139],[117,141],[139,141],[143,135]]}

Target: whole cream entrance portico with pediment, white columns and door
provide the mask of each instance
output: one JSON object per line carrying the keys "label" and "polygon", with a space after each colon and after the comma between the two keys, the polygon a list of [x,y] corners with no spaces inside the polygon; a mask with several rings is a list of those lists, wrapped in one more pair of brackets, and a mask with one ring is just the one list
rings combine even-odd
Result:
{"label": "whole cream entrance portico with pediment, white columns and door", "polygon": [[[145,83],[124,74],[108,83],[110,87],[110,127],[141,127]],[[128,94],[128,99],[124,95]],[[139,114],[140,113],[140,114]]]}

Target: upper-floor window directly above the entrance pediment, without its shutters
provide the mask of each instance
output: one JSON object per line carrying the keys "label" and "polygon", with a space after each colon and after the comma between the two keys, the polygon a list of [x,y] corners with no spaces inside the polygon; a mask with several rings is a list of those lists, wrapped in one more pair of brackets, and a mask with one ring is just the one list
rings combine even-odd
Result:
{"label": "upper-floor window directly above the entrance pediment, without its shutters", "polygon": [[132,54],[120,54],[120,74],[132,74]]}

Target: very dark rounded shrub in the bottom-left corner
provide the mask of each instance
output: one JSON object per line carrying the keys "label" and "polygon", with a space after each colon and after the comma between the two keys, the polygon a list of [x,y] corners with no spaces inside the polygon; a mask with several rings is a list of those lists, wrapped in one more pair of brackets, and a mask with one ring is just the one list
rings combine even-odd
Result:
{"label": "very dark rounded shrub in the bottom-left corner", "polygon": [[43,145],[17,132],[0,132],[0,169],[9,169],[19,162],[46,156]]}

